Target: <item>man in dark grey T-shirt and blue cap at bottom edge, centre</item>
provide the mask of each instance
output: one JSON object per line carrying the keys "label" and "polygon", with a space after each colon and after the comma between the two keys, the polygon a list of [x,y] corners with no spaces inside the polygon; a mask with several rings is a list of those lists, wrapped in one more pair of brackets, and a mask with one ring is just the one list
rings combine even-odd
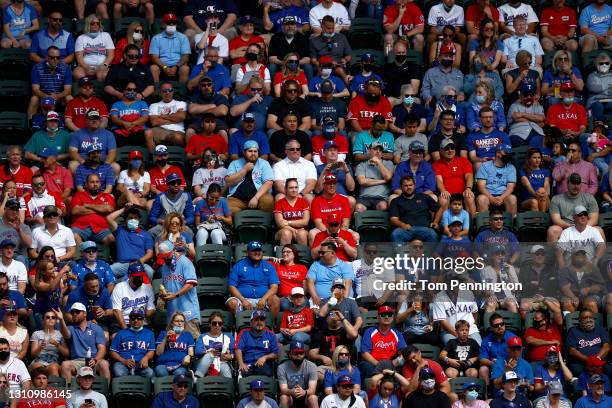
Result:
{"label": "man in dark grey T-shirt and blue cap at bottom edge, centre", "polygon": [[295,406],[300,403],[308,408],[318,408],[317,366],[304,356],[304,343],[292,340],[289,346],[289,360],[282,362],[277,369],[282,406]]}

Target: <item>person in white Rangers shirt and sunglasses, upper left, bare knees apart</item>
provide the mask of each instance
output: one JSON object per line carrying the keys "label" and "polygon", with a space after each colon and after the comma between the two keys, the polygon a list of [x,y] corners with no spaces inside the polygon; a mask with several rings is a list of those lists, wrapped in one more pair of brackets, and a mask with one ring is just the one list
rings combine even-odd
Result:
{"label": "person in white Rangers shirt and sunglasses, upper left, bare knees apart", "polygon": [[77,81],[84,76],[104,81],[115,57],[115,45],[110,34],[102,31],[101,18],[96,14],[87,16],[83,34],[77,37],[74,46],[77,66],[72,71]]}

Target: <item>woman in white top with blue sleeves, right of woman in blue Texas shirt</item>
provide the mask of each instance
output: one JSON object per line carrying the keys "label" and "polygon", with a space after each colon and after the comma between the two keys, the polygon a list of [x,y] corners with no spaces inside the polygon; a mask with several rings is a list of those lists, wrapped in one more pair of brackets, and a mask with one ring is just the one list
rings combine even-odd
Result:
{"label": "woman in white top with blue sleeves, right of woman in blue Texas shirt", "polygon": [[223,331],[223,315],[215,310],[208,318],[208,333],[201,334],[196,340],[195,356],[199,358],[196,363],[195,376],[200,378],[206,375],[219,375],[232,378],[230,363],[234,359],[234,336]]}

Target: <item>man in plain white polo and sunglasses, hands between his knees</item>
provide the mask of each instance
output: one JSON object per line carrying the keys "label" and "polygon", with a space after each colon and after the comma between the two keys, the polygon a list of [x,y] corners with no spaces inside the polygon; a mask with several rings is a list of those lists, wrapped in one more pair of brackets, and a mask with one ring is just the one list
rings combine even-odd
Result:
{"label": "man in plain white polo and sunglasses, hands between his knees", "polygon": [[317,169],[310,160],[302,157],[300,142],[295,139],[285,143],[286,157],[274,164],[275,201],[285,198],[285,181],[295,178],[298,182],[300,195],[310,204],[314,198],[314,188],[317,183]]}

